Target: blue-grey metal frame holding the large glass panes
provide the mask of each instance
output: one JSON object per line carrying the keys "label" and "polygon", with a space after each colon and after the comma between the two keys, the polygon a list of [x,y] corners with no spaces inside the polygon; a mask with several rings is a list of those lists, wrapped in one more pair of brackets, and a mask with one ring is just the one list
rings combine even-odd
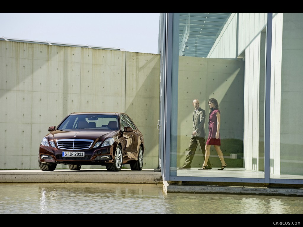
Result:
{"label": "blue-grey metal frame holding the large glass panes", "polygon": [[[173,171],[170,166],[174,160],[171,159],[171,132],[172,123],[171,121],[174,116],[172,116],[172,112],[174,111],[174,102],[172,100],[172,93],[174,92],[172,89],[174,81],[176,79],[173,77],[174,70],[178,72],[178,64],[176,64],[176,59],[173,59],[174,56],[178,56],[178,53],[173,52],[174,50],[179,52],[177,47],[174,45],[178,45],[178,42],[174,43],[174,29],[176,25],[174,25],[174,20],[178,21],[177,13],[166,13],[165,14],[165,40],[162,41],[162,45],[165,45],[165,53],[161,53],[165,55],[165,58],[161,65],[161,74],[164,77],[165,82],[163,83],[164,89],[164,97],[162,99],[164,102],[160,104],[165,110],[163,114],[163,122],[161,123],[161,127],[165,130],[162,130],[162,135],[160,135],[161,139],[164,141],[163,147],[160,146],[160,149],[164,149],[161,151],[160,159],[164,161],[164,164],[161,166],[161,174],[165,181],[197,181],[197,182],[231,182],[231,183],[263,183],[264,185],[268,185],[270,183],[273,184],[303,184],[303,180],[301,179],[271,179],[270,178],[270,90],[271,90],[271,45],[272,45],[272,13],[267,13],[267,26],[266,26],[266,63],[265,63],[265,138],[264,138],[264,149],[265,149],[265,163],[264,163],[264,178],[232,178],[232,177],[184,177],[184,176],[170,176],[171,171]],[[177,23],[175,23],[177,24]],[[178,61],[177,61],[178,62]],[[175,76],[175,75],[174,75]],[[161,110],[161,108],[160,108]],[[162,113],[160,113],[161,115]],[[176,113],[175,113],[176,114]],[[160,134],[160,132],[159,132]],[[173,172],[172,172],[173,173]]]}

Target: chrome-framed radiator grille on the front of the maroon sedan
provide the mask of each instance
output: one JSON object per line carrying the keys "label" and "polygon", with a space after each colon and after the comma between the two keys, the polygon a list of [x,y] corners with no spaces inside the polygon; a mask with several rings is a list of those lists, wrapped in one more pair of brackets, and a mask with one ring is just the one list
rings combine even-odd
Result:
{"label": "chrome-framed radiator grille on the front of the maroon sedan", "polygon": [[65,139],[57,140],[57,146],[64,150],[84,150],[89,149],[93,142],[93,140]]}

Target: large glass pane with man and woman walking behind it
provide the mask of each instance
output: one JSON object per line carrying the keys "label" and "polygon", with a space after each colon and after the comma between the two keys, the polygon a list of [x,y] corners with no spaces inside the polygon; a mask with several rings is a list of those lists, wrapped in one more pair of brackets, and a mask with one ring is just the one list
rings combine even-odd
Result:
{"label": "large glass pane with man and woman walking behind it", "polygon": [[[218,13],[216,16],[221,16],[224,21],[226,15]],[[211,26],[206,17],[204,13],[174,15],[174,29],[179,29],[178,33],[174,32],[178,38],[173,38],[170,176],[264,178],[265,50],[262,48],[265,45],[259,45],[257,52],[258,59],[262,58],[263,61],[259,68],[263,72],[257,74],[261,78],[252,82],[250,80],[253,77],[249,77],[252,74],[245,75],[246,67],[249,66],[244,61],[245,52],[241,59],[237,59],[235,54],[224,59],[223,56],[218,57],[218,54],[211,57],[211,50],[203,47],[206,36],[201,31],[210,29],[208,26]],[[212,20],[215,21],[214,18]],[[227,20],[225,18],[225,22]],[[236,21],[236,18],[233,20]],[[220,33],[220,29],[217,32]],[[218,35],[213,39],[218,39]],[[253,46],[251,48],[254,49]],[[203,55],[203,49],[208,54]],[[176,64],[177,67],[174,67]],[[204,141],[207,141],[211,129],[210,98],[217,100],[217,109],[220,110],[221,143],[218,143],[220,146],[216,146],[216,149],[214,145],[210,146],[208,167],[211,166],[212,169],[203,171],[199,169],[207,165],[204,163]],[[198,120],[194,115],[196,103],[199,105]],[[244,116],[247,117],[246,120]],[[199,123],[204,123],[204,127],[199,127]],[[221,160],[220,150],[223,154]],[[225,163],[227,166],[224,171],[218,171]],[[179,169],[180,167],[185,169]]]}

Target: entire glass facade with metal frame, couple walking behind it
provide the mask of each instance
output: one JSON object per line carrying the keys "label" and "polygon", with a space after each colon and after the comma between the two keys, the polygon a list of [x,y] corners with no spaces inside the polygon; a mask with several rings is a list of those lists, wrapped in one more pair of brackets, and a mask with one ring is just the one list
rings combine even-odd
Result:
{"label": "entire glass facade with metal frame, couple walking behind it", "polygon": [[[161,18],[166,31],[161,49],[164,179],[303,184],[303,127],[292,111],[303,102],[302,80],[294,70],[301,71],[301,64],[294,64],[303,57],[287,49],[293,42],[303,49],[303,29],[287,26],[288,21],[299,25],[303,14],[162,13]],[[222,171],[213,145],[211,169],[201,170],[205,145],[198,138],[208,139],[210,98],[220,110],[219,147],[227,164]]]}

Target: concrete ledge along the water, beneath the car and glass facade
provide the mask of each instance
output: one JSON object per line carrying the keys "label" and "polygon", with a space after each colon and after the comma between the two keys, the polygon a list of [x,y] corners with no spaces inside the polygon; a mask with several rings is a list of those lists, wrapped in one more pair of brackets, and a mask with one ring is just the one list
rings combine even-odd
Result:
{"label": "concrete ledge along the water, beneath the car and glass facade", "polygon": [[267,188],[247,186],[182,185],[163,181],[160,172],[154,169],[132,171],[122,169],[108,172],[106,169],[55,169],[52,172],[32,170],[0,170],[0,183],[144,183],[163,184],[166,192],[248,194],[267,196],[303,196],[302,188]]}

